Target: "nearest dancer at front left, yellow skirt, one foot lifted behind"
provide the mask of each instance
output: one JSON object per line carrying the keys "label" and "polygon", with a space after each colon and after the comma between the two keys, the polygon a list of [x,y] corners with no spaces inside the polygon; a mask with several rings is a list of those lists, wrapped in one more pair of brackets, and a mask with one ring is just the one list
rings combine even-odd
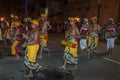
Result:
{"label": "nearest dancer at front left, yellow skirt, one foot lifted behind", "polygon": [[[33,21],[34,23],[34,21]],[[25,36],[27,39],[27,51],[25,55],[25,66],[29,69],[29,73],[25,75],[24,77],[32,77],[34,71],[39,71],[42,66],[37,63],[37,53],[39,50],[39,44],[38,44],[38,31],[35,28],[36,23],[32,25],[32,29],[29,30],[28,37]]]}

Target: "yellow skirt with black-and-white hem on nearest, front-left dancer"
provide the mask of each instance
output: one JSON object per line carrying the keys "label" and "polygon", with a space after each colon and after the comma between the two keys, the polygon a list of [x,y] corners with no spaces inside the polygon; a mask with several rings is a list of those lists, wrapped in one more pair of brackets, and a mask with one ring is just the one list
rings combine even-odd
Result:
{"label": "yellow skirt with black-and-white hem on nearest, front-left dancer", "polygon": [[39,44],[33,44],[35,41],[33,39],[28,40],[28,46],[25,56],[25,65],[30,70],[37,70],[39,68],[39,64],[36,62],[37,52],[39,50]]}

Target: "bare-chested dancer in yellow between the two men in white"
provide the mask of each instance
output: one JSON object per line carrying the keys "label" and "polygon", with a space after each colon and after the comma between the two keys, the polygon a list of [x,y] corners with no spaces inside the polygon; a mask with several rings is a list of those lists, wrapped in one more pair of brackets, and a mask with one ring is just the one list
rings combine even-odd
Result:
{"label": "bare-chested dancer in yellow between the two men in white", "polygon": [[96,55],[96,48],[98,47],[99,32],[100,26],[97,24],[97,17],[91,18],[91,24],[89,27],[89,36],[88,36],[88,59],[92,55]]}

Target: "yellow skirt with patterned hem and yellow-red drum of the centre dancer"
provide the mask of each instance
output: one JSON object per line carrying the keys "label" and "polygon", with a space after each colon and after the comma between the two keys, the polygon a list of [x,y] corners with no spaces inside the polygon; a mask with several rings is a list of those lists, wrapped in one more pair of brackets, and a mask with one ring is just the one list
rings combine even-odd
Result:
{"label": "yellow skirt with patterned hem and yellow-red drum of the centre dancer", "polygon": [[77,41],[74,38],[68,38],[68,40],[62,41],[62,45],[66,45],[63,58],[67,59],[67,63],[78,64]]}

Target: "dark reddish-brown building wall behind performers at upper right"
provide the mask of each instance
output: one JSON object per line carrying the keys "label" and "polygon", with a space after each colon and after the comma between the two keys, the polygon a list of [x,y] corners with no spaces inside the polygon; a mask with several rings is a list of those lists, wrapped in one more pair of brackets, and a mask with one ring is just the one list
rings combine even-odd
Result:
{"label": "dark reddish-brown building wall behind performers at upper right", "polygon": [[71,16],[90,19],[99,18],[99,23],[105,25],[108,18],[118,20],[120,0],[50,0],[49,16],[61,22]]}

